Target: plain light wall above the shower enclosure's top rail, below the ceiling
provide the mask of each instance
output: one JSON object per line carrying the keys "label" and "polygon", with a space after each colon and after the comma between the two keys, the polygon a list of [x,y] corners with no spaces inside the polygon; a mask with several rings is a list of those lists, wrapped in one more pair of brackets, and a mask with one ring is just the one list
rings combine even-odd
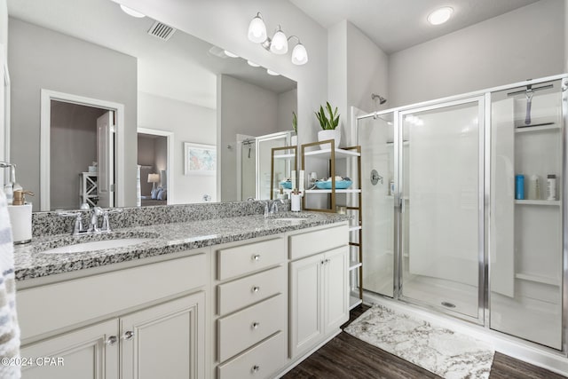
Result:
{"label": "plain light wall above the shower enclosure's top rail, below the ceiling", "polygon": [[540,0],[391,54],[390,107],[561,74],[564,3]]}

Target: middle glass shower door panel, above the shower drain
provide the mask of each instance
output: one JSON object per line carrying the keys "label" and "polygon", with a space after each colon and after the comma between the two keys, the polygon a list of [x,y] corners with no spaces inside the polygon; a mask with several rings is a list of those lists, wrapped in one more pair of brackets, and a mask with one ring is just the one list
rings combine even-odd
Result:
{"label": "middle glass shower door panel, above the shower drain", "polygon": [[483,322],[482,97],[401,112],[398,297]]}

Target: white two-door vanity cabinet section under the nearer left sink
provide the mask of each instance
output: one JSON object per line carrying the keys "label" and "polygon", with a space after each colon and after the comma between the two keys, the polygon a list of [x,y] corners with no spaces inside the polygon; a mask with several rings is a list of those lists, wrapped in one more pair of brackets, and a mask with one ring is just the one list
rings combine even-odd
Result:
{"label": "white two-door vanity cabinet section under the nearer left sink", "polygon": [[22,377],[204,378],[207,271],[201,253],[19,290]]}

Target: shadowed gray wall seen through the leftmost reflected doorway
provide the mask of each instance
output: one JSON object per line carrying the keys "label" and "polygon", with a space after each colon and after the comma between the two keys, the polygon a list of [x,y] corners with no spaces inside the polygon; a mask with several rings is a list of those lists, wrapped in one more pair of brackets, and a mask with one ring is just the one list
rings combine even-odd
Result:
{"label": "shadowed gray wall seen through the leftmost reflected doorway", "polygon": [[79,174],[97,161],[97,118],[105,113],[51,101],[51,209],[79,208]]}

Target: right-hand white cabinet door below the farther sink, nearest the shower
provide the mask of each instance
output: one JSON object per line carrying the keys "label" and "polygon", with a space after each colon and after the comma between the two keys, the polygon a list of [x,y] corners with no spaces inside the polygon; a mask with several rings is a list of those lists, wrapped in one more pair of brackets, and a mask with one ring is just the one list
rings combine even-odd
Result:
{"label": "right-hand white cabinet door below the farther sink, nearest the shower", "polygon": [[323,317],[327,334],[349,320],[349,247],[325,253],[323,265]]}

